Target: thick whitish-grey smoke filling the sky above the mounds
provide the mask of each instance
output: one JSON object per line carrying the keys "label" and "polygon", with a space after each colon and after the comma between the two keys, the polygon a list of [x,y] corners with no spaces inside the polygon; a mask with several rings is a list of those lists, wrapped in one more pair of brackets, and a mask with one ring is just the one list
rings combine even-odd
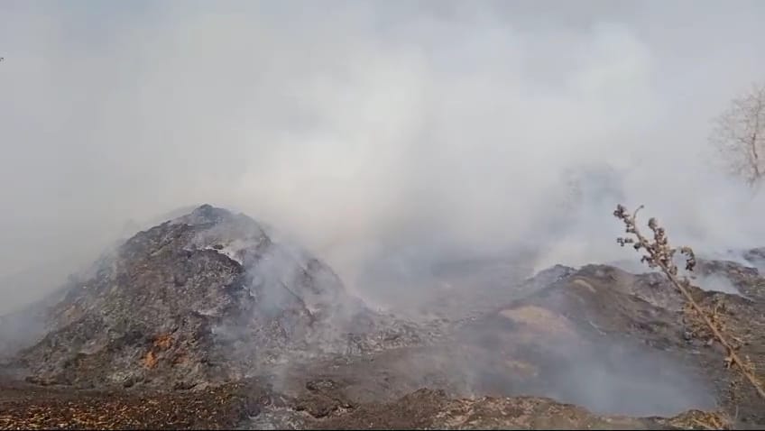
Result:
{"label": "thick whitish-grey smoke filling the sky above the mounds", "polygon": [[763,17],[757,1],[4,2],[0,277],[203,202],[293,234],[350,285],[390,255],[613,260],[616,199],[673,241],[763,245],[762,194],[706,150],[710,119],[765,77]]}

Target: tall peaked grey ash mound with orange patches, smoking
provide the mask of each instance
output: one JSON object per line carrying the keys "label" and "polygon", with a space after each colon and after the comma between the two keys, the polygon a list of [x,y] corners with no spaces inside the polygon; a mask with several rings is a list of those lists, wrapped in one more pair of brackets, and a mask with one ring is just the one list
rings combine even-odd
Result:
{"label": "tall peaked grey ash mound with orange patches, smoking", "polygon": [[192,388],[288,354],[343,353],[349,328],[369,350],[414,336],[349,296],[309,252],[207,205],[135,234],[58,295],[38,307],[44,336],[18,354],[30,381]]}

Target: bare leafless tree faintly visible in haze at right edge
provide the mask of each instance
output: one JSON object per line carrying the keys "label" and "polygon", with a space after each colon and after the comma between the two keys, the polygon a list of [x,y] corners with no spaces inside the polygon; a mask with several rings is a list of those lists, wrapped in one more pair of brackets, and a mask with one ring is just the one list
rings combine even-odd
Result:
{"label": "bare leafless tree faintly visible in haze at right edge", "polygon": [[715,123],[710,141],[726,168],[756,188],[765,178],[765,85],[733,99]]}

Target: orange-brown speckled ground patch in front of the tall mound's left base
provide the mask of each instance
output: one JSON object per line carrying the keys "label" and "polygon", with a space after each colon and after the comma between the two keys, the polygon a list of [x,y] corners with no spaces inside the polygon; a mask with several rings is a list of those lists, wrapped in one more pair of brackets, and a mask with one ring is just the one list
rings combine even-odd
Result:
{"label": "orange-brown speckled ground patch in front of the tall mound's left base", "polygon": [[257,406],[256,392],[241,384],[186,393],[0,384],[2,429],[230,429]]}

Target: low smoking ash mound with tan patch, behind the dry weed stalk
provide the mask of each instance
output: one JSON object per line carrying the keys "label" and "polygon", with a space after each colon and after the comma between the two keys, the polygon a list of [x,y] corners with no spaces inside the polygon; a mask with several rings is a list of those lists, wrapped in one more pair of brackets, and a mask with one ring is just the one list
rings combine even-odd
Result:
{"label": "low smoking ash mound with tan patch, behind the dry weed stalk", "polygon": [[[482,354],[492,358],[486,362],[494,365],[482,374],[484,390],[638,416],[719,404],[739,420],[765,422],[762,400],[748,383],[731,391],[737,371],[725,369],[718,344],[690,331],[684,300],[662,274],[631,274],[608,265],[557,272],[541,274],[544,282],[529,280],[526,298],[462,329],[474,361]],[[729,280],[742,291],[691,289],[742,341],[740,354],[763,369],[765,279],[730,261],[700,261],[698,272],[701,286],[714,274],[714,280]]]}

